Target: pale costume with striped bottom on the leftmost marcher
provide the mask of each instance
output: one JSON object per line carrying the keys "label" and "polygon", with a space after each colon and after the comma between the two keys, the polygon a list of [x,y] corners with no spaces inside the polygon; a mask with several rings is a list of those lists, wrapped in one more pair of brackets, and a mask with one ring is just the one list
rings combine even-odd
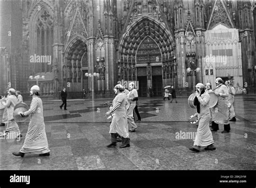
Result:
{"label": "pale costume with striped bottom on the leftmost marcher", "polygon": [[14,107],[15,105],[17,105],[17,98],[15,95],[9,95],[6,103],[3,102],[3,105],[6,108],[7,111],[7,116],[8,116],[8,120],[7,120],[7,126],[6,126],[6,132],[14,132],[14,133],[18,133],[21,134],[21,131],[19,130],[19,126],[17,124],[17,122],[14,119]]}

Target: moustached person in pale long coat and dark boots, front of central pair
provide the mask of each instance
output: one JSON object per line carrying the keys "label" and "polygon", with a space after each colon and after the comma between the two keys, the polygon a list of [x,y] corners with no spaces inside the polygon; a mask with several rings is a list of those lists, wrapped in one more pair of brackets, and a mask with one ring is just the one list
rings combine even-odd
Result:
{"label": "moustached person in pale long coat and dark boots, front of central pair", "polygon": [[114,113],[112,122],[110,124],[111,144],[107,145],[108,148],[115,147],[117,144],[117,136],[122,138],[122,145],[120,148],[130,147],[130,138],[127,124],[127,96],[124,93],[125,88],[118,84],[114,86],[114,93],[116,97],[113,100],[113,106],[106,113],[109,116]]}

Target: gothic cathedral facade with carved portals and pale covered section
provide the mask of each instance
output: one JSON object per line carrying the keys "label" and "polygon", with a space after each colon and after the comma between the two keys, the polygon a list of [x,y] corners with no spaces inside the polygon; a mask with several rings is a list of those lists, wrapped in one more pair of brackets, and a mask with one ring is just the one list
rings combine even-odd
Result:
{"label": "gothic cathedral facade with carved portals and pale covered section", "polygon": [[23,92],[38,83],[46,96],[65,87],[104,98],[118,82],[134,81],[139,96],[150,87],[162,95],[167,85],[186,96],[217,77],[255,86],[253,1],[23,0],[21,7],[22,55],[3,61],[22,64],[24,73],[6,80]]}

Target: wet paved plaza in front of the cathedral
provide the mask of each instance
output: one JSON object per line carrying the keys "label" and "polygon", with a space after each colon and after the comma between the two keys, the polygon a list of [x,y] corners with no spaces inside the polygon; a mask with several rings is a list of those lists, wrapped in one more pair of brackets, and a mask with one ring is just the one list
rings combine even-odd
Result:
{"label": "wet paved plaza in front of the cathedral", "polygon": [[[140,98],[142,121],[130,133],[131,147],[107,148],[109,125],[104,114],[107,100],[44,101],[44,117],[50,156],[12,155],[24,142],[28,122],[18,123],[20,141],[1,139],[0,170],[255,170],[256,169],[256,95],[235,96],[237,121],[231,132],[213,132],[214,151],[191,152],[197,126],[188,122],[196,109],[187,98],[178,103],[163,98]],[[109,100],[111,101],[111,100]],[[30,101],[25,101],[30,105]],[[3,110],[1,110],[2,118]],[[3,133],[4,127],[0,127]],[[186,134],[186,137],[181,135]]]}

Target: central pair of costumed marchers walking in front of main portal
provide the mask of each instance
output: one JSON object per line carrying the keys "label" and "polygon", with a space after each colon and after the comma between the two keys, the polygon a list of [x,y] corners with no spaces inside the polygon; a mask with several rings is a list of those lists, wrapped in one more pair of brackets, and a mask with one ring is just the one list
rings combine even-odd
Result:
{"label": "central pair of costumed marchers walking in front of main portal", "polygon": [[112,106],[106,113],[106,116],[113,114],[110,124],[111,143],[108,148],[116,147],[117,142],[122,142],[120,148],[130,147],[129,131],[135,132],[137,125],[133,118],[133,109],[138,101],[138,92],[134,88],[134,83],[129,83],[129,90],[118,84],[114,86],[114,94]]}

